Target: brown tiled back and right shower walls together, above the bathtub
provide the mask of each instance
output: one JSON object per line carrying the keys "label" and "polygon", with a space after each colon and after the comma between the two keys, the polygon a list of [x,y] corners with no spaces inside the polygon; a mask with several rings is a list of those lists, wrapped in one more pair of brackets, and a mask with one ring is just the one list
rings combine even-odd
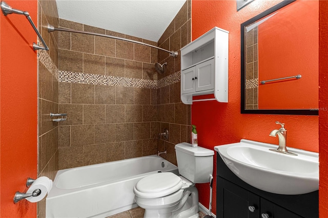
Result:
{"label": "brown tiled back and right shower walls together, above the bathtub", "polygon": [[[59,20],[59,26],[110,34],[179,51],[191,39],[190,1],[157,42]],[[159,50],[158,50],[159,51]],[[156,61],[168,62],[157,74]],[[180,102],[180,56],[135,43],[59,32],[59,169],[154,155],[176,164],[174,144],[190,141],[190,106]],[[167,141],[157,140],[163,128]],[[157,146],[159,145],[159,146]]]}

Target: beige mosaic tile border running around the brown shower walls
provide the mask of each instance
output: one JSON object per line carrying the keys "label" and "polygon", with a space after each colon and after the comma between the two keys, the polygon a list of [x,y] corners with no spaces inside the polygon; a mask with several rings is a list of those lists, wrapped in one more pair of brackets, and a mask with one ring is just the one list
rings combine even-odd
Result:
{"label": "beige mosaic tile border running around the brown shower walls", "polygon": [[86,83],[95,85],[125,86],[145,89],[159,89],[180,81],[180,71],[160,80],[135,79],[98,74],[85,74],[69,71],[58,71],[54,62],[45,50],[38,50],[38,60],[44,64],[59,82]]}

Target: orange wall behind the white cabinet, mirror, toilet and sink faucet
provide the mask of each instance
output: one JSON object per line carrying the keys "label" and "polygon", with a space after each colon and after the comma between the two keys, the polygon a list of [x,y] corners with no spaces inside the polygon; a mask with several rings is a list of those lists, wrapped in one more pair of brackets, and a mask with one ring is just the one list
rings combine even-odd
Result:
{"label": "orange wall behind the white cabinet, mirror, toilet and sink faucet", "polygon": [[[279,2],[256,0],[237,12],[236,1],[192,1],[193,40],[215,26],[230,32],[229,103],[193,103],[192,123],[197,126],[199,146],[213,149],[216,145],[234,143],[240,139],[278,144],[278,139],[269,137],[269,133],[279,127],[275,121],[280,121],[285,123],[288,130],[288,146],[319,151],[318,116],[240,114],[240,24]],[[214,158],[216,178],[216,155]],[[201,193],[199,201],[206,207],[209,205],[208,186],[197,184]],[[216,180],[212,205],[216,214]]]}

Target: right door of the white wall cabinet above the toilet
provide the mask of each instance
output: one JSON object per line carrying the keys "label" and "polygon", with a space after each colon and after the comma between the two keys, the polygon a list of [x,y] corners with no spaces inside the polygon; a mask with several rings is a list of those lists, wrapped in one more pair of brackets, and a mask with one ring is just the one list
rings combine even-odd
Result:
{"label": "right door of the white wall cabinet above the toilet", "polygon": [[196,92],[214,89],[214,58],[196,66]]}

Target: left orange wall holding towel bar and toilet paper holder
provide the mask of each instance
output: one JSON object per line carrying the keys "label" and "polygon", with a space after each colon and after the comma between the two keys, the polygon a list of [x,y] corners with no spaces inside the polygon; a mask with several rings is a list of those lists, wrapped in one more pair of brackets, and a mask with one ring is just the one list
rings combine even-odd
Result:
{"label": "left orange wall holding towel bar and toilet paper holder", "polygon": [[[36,0],[6,2],[28,11],[36,24]],[[37,60],[31,47],[36,34],[23,15],[1,13],[0,26],[0,216],[36,217],[35,203],[13,203],[16,191],[26,191],[27,178],[36,178]]]}

